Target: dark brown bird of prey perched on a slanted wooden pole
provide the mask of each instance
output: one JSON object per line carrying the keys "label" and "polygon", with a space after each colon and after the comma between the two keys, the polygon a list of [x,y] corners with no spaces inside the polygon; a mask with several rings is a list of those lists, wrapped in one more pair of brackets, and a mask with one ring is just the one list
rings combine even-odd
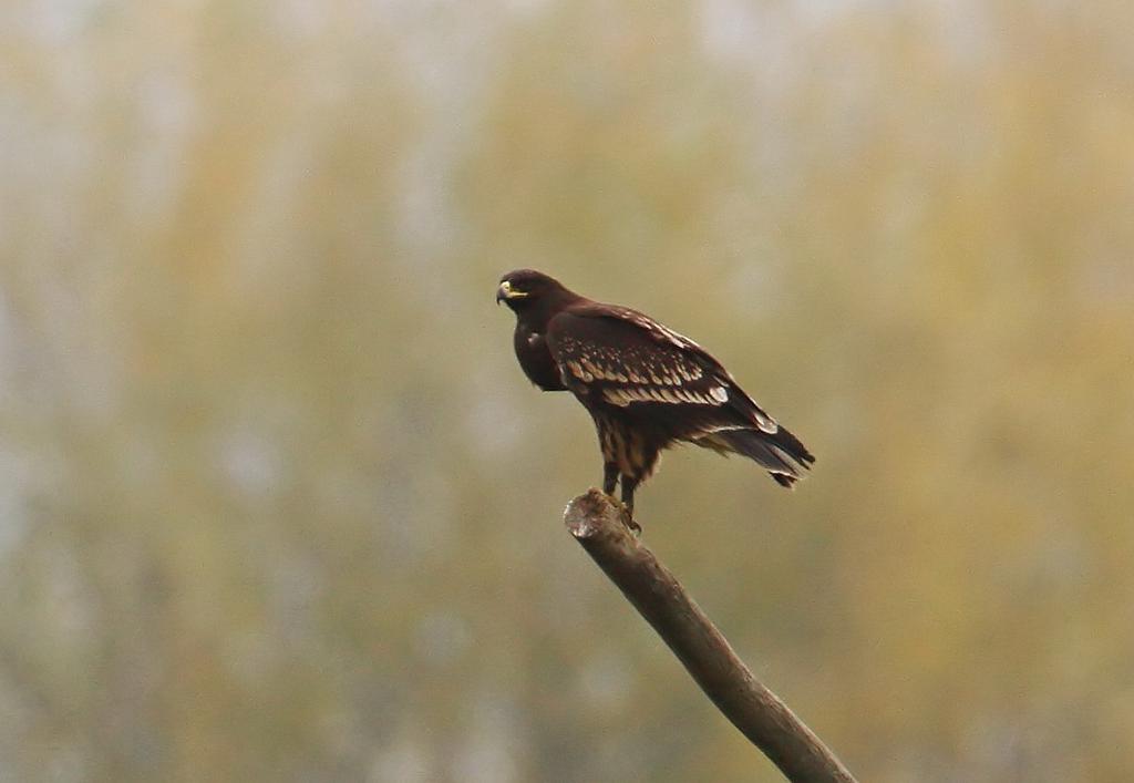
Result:
{"label": "dark brown bird of prey perched on a slanted wooden pole", "polygon": [[602,489],[613,495],[620,479],[632,519],[634,489],[677,443],[746,456],[788,488],[815,461],[708,351],[649,315],[593,302],[532,269],[500,278],[500,302],[516,313],[524,373],[545,392],[569,390],[591,412]]}

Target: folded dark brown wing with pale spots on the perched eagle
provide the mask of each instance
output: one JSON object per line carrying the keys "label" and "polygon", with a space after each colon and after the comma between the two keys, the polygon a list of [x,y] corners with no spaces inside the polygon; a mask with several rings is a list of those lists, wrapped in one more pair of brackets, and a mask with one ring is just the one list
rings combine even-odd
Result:
{"label": "folded dark brown wing with pale spots on the perched eagle", "polygon": [[547,337],[564,382],[589,399],[680,406],[702,432],[779,430],[708,351],[636,310],[575,306],[551,319]]}

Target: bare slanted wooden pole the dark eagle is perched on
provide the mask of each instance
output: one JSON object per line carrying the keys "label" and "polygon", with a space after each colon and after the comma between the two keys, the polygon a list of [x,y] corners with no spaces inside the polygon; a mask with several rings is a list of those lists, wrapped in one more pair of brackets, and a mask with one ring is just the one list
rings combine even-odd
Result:
{"label": "bare slanted wooden pole the dark eagle is perched on", "polygon": [[701,690],[789,781],[854,783],[827,746],[752,676],[680,582],[631,533],[623,514],[608,496],[592,489],[568,504],[564,522]]}

